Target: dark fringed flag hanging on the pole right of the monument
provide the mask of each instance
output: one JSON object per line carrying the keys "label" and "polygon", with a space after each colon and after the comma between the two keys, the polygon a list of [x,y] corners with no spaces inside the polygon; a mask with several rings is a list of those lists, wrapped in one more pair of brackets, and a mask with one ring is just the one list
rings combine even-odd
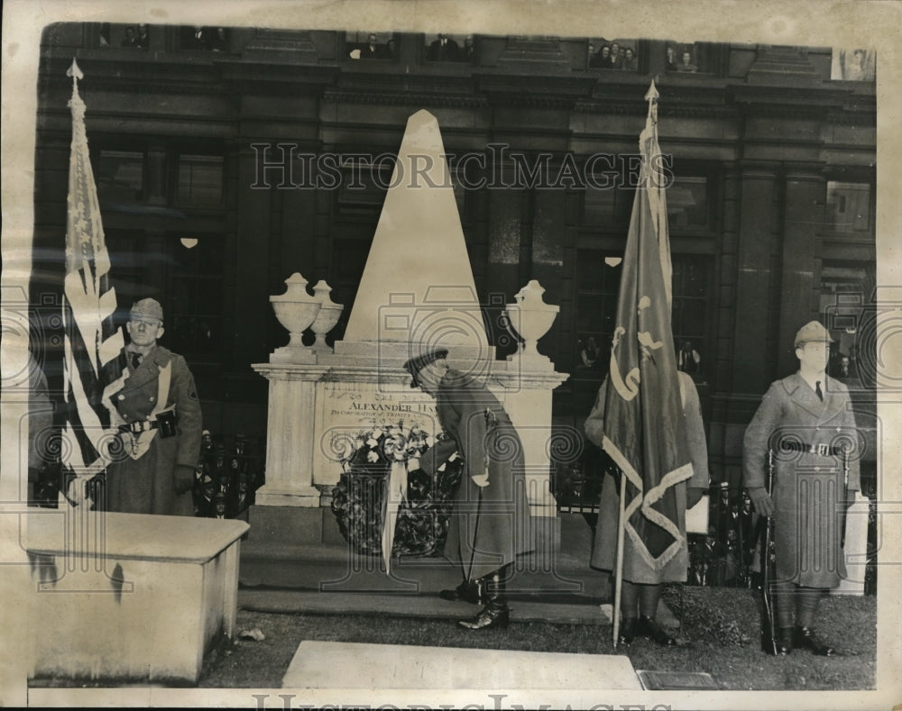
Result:
{"label": "dark fringed flag hanging on the pole right of the monument", "polygon": [[670,329],[670,247],[665,176],[658,147],[658,92],[646,99],[640,135],[640,187],[630,232],[612,338],[604,400],[603,448],[626,477],[621,524],[653,569],[684,545],[674,485],[692,476]]}

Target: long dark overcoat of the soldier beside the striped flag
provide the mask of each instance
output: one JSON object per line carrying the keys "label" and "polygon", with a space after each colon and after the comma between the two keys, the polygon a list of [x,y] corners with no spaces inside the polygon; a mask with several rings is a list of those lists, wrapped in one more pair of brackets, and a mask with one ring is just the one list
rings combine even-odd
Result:
{"label": "long dark overcoat of the soldier beside the striped flag", "polygon": [[180,496],[174,488],[176,466],[195,469],[200,459],[200,401],[185,359],[162,346],[155,347],[126,378],[113,403],[126,423],[145,420],[157,405],[160,370],[167,363],[172,369],[166,407],[175,406],[179,433],[162,438],[158,432],[139,459],[124,455],[106,469],[108,511],[194,515],[190,488]]}

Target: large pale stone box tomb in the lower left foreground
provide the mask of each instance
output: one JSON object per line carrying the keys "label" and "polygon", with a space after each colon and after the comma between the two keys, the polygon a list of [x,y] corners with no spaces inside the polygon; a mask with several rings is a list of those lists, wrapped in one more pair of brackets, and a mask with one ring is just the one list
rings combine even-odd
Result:
{"label": "large pale stone box tomb in the lower left foreground", "polygon": [[235,633],[244,521],[95,513],[23,516],[32,562],[32,678],[197,683]]}

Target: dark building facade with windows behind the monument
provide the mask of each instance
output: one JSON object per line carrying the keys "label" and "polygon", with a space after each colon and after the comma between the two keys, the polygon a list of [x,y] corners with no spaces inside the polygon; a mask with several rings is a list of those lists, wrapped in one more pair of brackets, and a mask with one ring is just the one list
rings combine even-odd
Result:
{"label": "dark building facade with windows behind the monument", "polygon": [[[673,177],[675,342],[697,355],[714,479],[739,486],[745,426],[769,383],[796,368],[793,335],[813,318],[831,329],[836,363],[845,355],[857,371],[872,477],[872,53],[447,39],[50,26],[36,87],[32,304],[51,313],[61,298],[75,57],[119,305],[126,313],[135,299],[158,298],[163,342],[189,360],[205,426],[262,437],[267,383],[250,366],[287,341],[269,296],[295,271],[326,279],[346,319],[391,156],[410,114],[427,109],[445,141],[490,342],[499,357],[512,351],[501,310],[538,279],[560,305],[539,351],[570,373],[555,422],[578,431],[606,372],[654,79]],[[41,320],[52,383],[54,324]],[[558,483],[573,463],[558,464]]]}

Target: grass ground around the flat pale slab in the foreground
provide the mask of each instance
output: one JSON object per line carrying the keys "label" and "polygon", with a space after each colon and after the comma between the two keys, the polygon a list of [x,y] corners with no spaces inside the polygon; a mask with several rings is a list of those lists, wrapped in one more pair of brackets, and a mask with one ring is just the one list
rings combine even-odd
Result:
{"label": "grass ground around the flat pale slab in the foreground", "polygon": [[[441,647],[612,654],[625,652],[635,669],[707,671],[723,689],[870,689],[875,685],[877,600],[826,597],[817,630],[842,656],[796,651],[774,658],[760,651],[759,597],[741,588],[668,588],[667,604],[680,616],[683,644],[662,649],[649,640],[614,651],[611,627],[516,623],[473,633],[449,620],[385,615],[279,615],[238,611],[237,630],[258,627],[262,642],[236,640],[209,656],[198,686],[279,688],[303,640]],[[511,603],[514,606],[516,603]]]}

